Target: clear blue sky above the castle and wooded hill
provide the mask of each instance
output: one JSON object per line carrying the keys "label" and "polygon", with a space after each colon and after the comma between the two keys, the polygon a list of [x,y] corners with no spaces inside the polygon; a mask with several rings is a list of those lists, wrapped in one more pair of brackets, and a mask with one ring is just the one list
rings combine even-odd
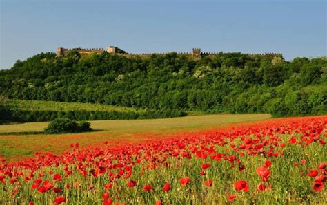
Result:
{"label": "clear blue sky above the castle and wooded hill", "polygon": [[57,47],[326,56],[326,1],[0,2],[0,69]]}

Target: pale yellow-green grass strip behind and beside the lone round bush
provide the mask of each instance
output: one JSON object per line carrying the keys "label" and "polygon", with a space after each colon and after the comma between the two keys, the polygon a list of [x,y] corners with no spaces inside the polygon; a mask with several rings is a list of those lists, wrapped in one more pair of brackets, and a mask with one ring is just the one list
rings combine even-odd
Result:
{"label": "pale yellow-green grass strip behind and beside the lone round bush", "polygon": [[[179,129],[197,129],[233,122],[247,122],[270,118],[270,114],[241,114],[241,115],[203,115],[186,116],[182,118],[165,118],[149,120],[96,120],[90,121],[95,131],[110,133],[126,133],[139,131],[171,131]],[[0,125],[1,133],[43,131],[48,122],[26,122],[10,125]]]}

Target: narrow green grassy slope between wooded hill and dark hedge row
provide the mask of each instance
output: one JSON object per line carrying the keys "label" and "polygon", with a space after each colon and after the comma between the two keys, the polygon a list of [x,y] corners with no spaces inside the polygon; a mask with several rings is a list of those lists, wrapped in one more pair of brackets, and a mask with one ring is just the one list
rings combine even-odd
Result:
{"label": "narrow green grassy slope between wooded hill and dark hedge row", "polygon": [[131,107],[90,104],[81,102],[55,102],[42,100],[6,100],[6,107],[16,107],[21,110],[51,110],[51,111],[141,111]]}

